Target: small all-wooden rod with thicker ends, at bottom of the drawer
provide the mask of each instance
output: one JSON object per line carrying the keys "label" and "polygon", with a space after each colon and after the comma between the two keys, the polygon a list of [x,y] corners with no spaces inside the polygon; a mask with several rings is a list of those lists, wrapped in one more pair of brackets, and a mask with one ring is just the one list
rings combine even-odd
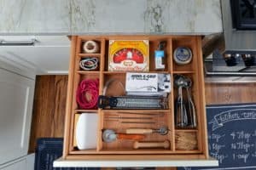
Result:
{"label": "small all-wooden rod with thicker ends, at bottom of the drawer", "polygon": [[170,148],[170,141],[165,140],[163,142],[138,142],[135,141],[133,144],[133,149],[140,149],[140,148]]}

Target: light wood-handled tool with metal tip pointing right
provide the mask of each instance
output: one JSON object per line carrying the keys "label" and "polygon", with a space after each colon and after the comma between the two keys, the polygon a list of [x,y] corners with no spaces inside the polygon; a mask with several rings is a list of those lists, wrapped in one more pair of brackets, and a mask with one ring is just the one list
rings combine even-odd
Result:
{"label": "light wood-handled tool with metal tip pointing right", "polygon": [[166,135],[168,133],[168,127],[160,127],[159,129],[151,128],[128,128],[126,129],[127,134],[151,134],[160,133],[160,135]]}

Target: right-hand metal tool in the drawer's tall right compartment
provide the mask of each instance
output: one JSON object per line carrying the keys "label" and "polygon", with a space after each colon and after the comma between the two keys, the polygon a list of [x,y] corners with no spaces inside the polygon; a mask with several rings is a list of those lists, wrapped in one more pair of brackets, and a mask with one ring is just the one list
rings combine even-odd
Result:
{"label": "right-hand metal tool in the drawer's tall right compartment", "polygon": [[192,87],[192,81],[190,78],[186,77],[185,82],[185,88],[187,89],[187,95],[188,95],[188,115],[189,115],[189,126],[190,127],[196,127],[197,126],[197,118],[196,118],[196,112],[195,112],[195,104],[193,102],[193,99],[191,97],[191,87]]}

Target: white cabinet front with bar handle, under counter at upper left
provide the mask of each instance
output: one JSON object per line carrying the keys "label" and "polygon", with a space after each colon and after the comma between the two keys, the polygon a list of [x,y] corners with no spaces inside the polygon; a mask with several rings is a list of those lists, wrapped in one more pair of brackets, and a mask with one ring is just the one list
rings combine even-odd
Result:
{"label": "white cabinet front with bar handle, under counter at upper left", "polygon": [[[0,59],[33,70],[38,75],[67,74],[70,41],[67,36],[15,36],[0,37],[8,46],[0,46]],[[32,42],[26,45],[24,42]]]}

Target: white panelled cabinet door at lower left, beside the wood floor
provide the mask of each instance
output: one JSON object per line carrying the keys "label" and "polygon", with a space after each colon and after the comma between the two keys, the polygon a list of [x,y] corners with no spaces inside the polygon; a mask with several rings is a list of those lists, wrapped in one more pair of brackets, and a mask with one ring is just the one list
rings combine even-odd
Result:
{"label": "white panelled cabinet door at lower left, beside the wood floor", "polygon": [[0,165],[27,154],[34,84],[0,69]]}

